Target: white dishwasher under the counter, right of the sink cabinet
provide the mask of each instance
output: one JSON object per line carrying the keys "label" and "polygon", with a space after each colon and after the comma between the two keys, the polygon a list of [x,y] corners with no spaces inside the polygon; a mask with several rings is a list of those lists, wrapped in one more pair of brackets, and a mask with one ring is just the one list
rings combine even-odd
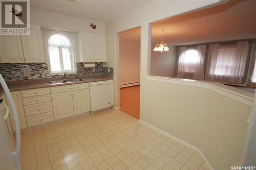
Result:
{"label": "white dishwasher under the counter, right of the sink cabinet", "polygon": [[111,80],[90,83],[92,111],[112,106]]}

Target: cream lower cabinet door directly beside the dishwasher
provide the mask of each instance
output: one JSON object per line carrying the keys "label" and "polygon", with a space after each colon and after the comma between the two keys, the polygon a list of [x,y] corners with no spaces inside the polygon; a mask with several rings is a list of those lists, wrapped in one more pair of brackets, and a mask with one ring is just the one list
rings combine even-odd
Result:
{"label": "cream lower cabinet door directly beside the dishwasher", "polygon": [[75,114],[91,111],[89,89],[74,90],[72,94]]}

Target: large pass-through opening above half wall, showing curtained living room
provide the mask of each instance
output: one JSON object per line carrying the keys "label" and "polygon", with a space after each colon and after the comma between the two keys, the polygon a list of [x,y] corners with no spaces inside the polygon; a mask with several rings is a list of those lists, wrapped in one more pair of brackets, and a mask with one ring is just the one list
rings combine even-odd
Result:
{"label": "large pass-through opening above half wall, showing curtained living room", "polygon": [[[254,7],[254,1],[229,2],[152,23],[150,75],[255,88],[247,79],[256,31],[246,19],[256,17]],[[159,50],[161,43],[168,50]]]}

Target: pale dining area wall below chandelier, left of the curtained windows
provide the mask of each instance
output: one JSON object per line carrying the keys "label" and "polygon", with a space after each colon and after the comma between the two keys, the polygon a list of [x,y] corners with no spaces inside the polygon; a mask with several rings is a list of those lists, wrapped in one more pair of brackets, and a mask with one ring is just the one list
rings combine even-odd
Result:
{"label": "pale dining area wall below chandelier, left of the curtained windows", "polygon": [[152,43],[150,74],[153,76],[174,77],[176,46],[168,45],[169,51],[163,53],[154,52],[155,46],[156,43]]}

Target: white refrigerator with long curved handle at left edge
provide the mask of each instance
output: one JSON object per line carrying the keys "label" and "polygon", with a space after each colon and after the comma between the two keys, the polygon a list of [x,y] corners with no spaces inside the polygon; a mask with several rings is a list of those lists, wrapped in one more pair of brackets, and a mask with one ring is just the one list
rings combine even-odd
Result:
{"label": "white refrigerator with long curved handle at left edge", "polygon": [[[20,129],[18,122],[17,111],[11,96],[11,93],[0,74],[0,84],[5,91],[6,99],[10,104],[15,127],[16,127],[16,149],[13,149],[13,136],[12,130],[8,130],[8,125],[6,124],[9,118],[9,108],[6,103],[0,104],[0,169],[20,169],[19,167],[19,150],[20,150]],[[13,151],[15,150],[15,151]]]}

